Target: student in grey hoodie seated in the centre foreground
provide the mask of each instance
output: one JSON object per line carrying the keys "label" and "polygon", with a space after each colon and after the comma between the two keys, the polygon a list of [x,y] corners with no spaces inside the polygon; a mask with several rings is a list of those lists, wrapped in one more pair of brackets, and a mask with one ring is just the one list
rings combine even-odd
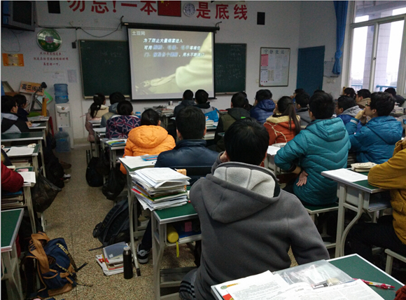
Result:
{"label": "student in grey hoodie seated in the centre foreground", "polygon": [[244,118],[224,139],[225,152],[211,175],[190,189],[202,229],[202,257],[200,267],[183,278],[181,299],[215,299],[211,285],[289,268],[290,247],[298,264],[329,258],[297,197],[259,166],[267,154],[267,130]]}

